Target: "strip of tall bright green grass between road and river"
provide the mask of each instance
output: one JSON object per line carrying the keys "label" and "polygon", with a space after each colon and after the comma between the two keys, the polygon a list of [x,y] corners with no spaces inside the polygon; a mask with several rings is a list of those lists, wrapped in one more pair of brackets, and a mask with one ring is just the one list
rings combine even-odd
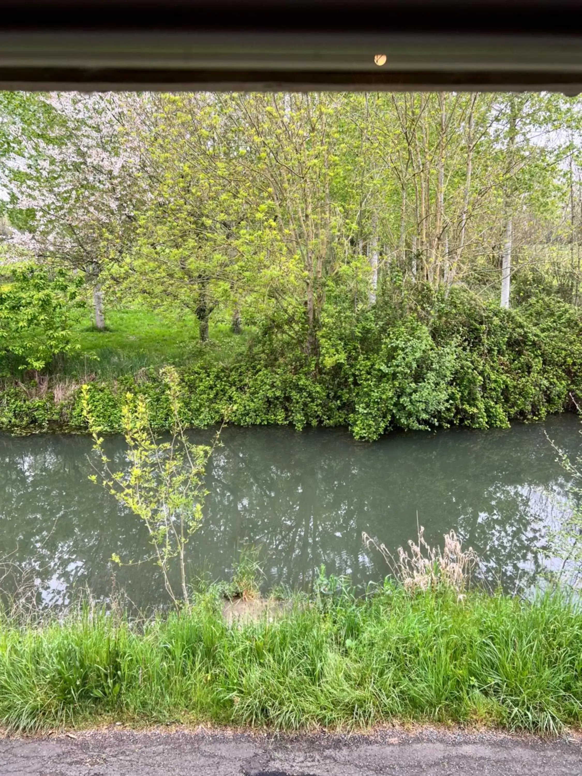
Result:
{"label": "strip of tall bright green grass between road and river", "polygon": [[310,729],[391,719],[553,732],[582,722],[582,612],[483,593],[385,588],[228,625],[191,611],[130,622],[85,608],[0,631],[0,724],[126,722]]}

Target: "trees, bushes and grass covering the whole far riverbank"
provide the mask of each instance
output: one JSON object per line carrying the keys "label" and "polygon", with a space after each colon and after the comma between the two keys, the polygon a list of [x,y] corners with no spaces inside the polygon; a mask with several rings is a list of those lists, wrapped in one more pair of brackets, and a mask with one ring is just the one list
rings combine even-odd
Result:
{"label": "trees, bushes and grass covering the whole far riverbank", "polygon": [[580,394],[580,99],[0,95],[0,428],[506,426]]}

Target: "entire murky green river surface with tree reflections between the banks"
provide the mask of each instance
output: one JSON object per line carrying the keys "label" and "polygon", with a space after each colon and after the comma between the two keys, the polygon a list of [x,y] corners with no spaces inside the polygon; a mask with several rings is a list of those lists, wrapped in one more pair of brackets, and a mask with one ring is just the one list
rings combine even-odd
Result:
{"label": "entire murky green river surface with tree reflections between the banks", "polygon": [[[577,445],[575,418],[549,425],[560,445]],[[268,584],[306,584],[320,563],[356,583],[378,579],[386,569],[364,553],[362,531],[396,549],[415,535],[418,514],[429,541],[455,528],[511,586],[523,569],[539,568],[535,547],[550,509],[543,491],[564,487],[541,426],[392,435],[372,445],[337,430],[230,428],[223,442],[192,574],[223,577],[246,538],[262,545]],[[112,553],[149,554],[140,521],[88,482],[90,449],[79,437],[0,438],[0,556],[18,546],[54,596],[60,585],[85,583],[106,595]],[[109,454],[123,457],[119,439]],[[139,605],[164,598],[150,564],[117,579]]]}

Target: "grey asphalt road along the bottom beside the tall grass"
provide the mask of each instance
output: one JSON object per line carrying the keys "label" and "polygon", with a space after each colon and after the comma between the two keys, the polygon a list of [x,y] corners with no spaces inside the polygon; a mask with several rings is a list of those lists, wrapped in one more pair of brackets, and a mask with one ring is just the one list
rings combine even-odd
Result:
{"label": "grey asphalt road along the bottom beside the tall grass", "polygon": [[107,730],[0,739],[0,776],[580,776],[582,740],[493,733],[247,736]]}

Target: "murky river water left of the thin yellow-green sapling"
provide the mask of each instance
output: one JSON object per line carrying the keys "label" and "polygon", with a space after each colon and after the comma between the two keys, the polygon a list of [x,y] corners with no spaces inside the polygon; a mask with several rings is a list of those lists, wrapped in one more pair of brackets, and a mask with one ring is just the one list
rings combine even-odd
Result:
{"label": "murky river water left of the thin yellow-green sapling", "polygon": [[[125,519],[88,482],[90,450],[87,438],[0,438],[0,556],[12,553],[36,568],[43,601],[62,601],[64,591],[85,584],[106,595],[111,554],[140,559],[147,552],[139,521]],[[117,572],[119,584],[130,584],[128,572]],[[150,569],[140,580],[146,598],[147,587],[158,597],[155,577]]]}

